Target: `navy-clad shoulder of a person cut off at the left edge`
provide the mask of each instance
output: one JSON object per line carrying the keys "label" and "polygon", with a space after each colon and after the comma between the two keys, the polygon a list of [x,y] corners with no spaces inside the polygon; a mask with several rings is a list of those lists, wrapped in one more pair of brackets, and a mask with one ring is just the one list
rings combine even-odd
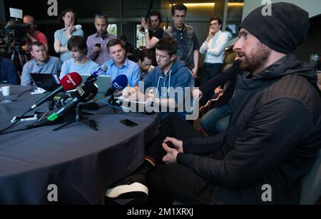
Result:
{"label": "navy-clad shoulder of a person cut off at the left edge", "polygon": [[14,63],[0,56],[0,83],[18,84],[18,74]]}

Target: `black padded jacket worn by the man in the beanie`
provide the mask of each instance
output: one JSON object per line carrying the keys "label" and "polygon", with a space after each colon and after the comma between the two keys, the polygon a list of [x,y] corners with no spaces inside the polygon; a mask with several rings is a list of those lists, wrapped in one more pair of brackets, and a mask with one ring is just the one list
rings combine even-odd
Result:
{"label": "black padded jacket worn by the man in the beanie", "polygon": [[[228,132],[183,142],[178,163],[217,185],[213,203],[299,203],[302,178],[321,148],[316,80],[292,54],[239,77]],[[272,202],[261,198],[265,184]]]}

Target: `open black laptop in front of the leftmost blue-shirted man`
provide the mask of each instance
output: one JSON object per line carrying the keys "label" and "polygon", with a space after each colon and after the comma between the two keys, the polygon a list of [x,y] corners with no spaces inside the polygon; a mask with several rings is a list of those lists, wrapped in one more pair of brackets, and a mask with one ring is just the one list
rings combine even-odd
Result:
{"label": "open black laptop in front of the leftmost blue-shirted man", "polygon": [[60,86],[59,77],[51,73],[30,73],[31,78],[36,83],[36,86],[43,88],[46,91],[54,91]]}

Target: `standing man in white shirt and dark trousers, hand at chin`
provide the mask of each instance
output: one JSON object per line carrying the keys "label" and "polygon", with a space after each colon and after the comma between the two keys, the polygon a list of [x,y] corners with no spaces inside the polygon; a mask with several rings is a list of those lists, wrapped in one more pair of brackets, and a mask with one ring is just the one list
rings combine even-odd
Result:
{"label": "standing man in white shirt and dark trousers, hand at chin", "polygon": [[208,39],[200,47],[200,54],[205,54],[202,85],[222,71],[228,34],[221,31],[223,21],[219,17],[210,18]]}

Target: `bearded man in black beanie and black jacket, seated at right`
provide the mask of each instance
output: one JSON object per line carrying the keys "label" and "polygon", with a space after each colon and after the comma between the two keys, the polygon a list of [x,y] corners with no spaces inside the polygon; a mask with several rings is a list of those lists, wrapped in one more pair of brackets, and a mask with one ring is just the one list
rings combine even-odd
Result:
{"label": "bearded man in black beanie and black jacket, seated at right", "polygon": [[[317,75],[292,54],[307,38],[309,16],[293,4],[270,6],[271,16],[263,16],[261,6],[240,25],[233,49],[244,73],[227,133],[200,138],[185,121],[169,116],[145,163],[126,178],[128,186],[135,180],[146,186],[151,203],[299,203],[302,179],[321,147]],[[117,188],[109,190],[113,198],[139,193]]]}

